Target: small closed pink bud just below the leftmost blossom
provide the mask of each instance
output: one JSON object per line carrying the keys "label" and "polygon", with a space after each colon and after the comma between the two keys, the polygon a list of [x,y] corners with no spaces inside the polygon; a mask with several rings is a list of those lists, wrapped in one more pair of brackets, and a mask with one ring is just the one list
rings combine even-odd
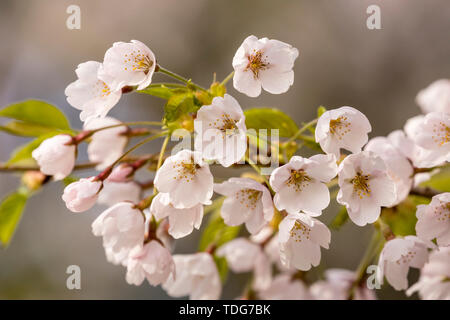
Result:
{"label": "small closed pink bud just below the leftmost blossom", "polygon": [[94,206],[101,188],[102,182],[96,177],[80,179],[64,189],[62,199],[70,211],[83,212]]}

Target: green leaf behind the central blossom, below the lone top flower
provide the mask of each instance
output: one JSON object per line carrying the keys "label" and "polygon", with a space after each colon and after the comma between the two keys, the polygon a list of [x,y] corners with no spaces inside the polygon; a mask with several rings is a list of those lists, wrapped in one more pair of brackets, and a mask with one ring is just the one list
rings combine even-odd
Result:
{"label": "green leaf behind the central blossom, below the lone top flower", "polygon": [[253,108],[244,112],[247,129],[279,129],[280,137],[292,137],[298,130],[298,126],[284,112],[273,108]]}

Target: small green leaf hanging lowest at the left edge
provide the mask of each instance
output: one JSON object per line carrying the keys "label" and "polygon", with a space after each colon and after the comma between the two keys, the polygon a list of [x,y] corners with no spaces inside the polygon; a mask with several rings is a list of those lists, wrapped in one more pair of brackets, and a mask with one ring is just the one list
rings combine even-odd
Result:
{"label": "small green leaf hanging lowest at the left edge", "polygon": [[22,216],[28,195],[17,191],[8,195],[0,204],[0,242],[7,247]]}

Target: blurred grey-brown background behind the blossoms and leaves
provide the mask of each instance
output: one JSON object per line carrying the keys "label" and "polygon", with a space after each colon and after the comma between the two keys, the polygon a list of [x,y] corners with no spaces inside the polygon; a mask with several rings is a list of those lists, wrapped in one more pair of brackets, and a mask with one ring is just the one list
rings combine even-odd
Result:
{"label": "blurred grey-brown background behind the blossoms and leaves", "polygon": [[[81,30],[69,30],[66,9],[81,8]],[[366,9],[381,8],[381,30],[366,27]],[[295,83],[283,95],[250,99],[235,91],[246,108],[278,107],[297,123],[309,121],[319,105],[353,106],[367,115],[371,137],[401,128],[419,113],[418,90],[450,74],[448,0],[2,0],[0,2],[0,107],[27,98],[57,105],[75,128],[79,111],[65,100],[80,62],[102,61],[115,41],[138,39],[158,62],[208,86],[231,70],[236,49],[250,34],[297,47]],[[157,75],[155,81],[164,79]],[[163,101],[124,96],[110,113],[124,121],[159,120]],[[2,121],[0,119],[0,121]],[[0,162],[26,140],[0,134]],[[156,151],[159,146],[148,146]],[[81,152],[81,159],[85,159]],[[86,173],[88,174],[88,173]],[[18,184],[1,174],[0,197]],[[102,211],[70,213],[61,200],[62,185],[50,184],[29,201],[14,239],[0,250],[1,299],[161,299],[160,288],[125,282],[125,269],[109,264],[91,223]],[[336,213],[331,206],[325,222]],[[177,252],[193,252],[200,232],[178,241]],[[370,234],[349,223],[333,232],[323,265],[356,269]],[[81,290],[66,288],[66,268],[81,267]],[[411,280],[417,277],[411,273]],[[245,275],[230,275],[224,298],[239,295]],[[403,298],[388,285],[380,298]]]}

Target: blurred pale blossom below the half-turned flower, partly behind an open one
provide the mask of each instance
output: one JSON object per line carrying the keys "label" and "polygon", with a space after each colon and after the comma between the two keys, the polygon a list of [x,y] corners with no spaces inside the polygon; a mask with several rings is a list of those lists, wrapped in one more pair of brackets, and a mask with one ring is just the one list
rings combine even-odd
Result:
{"label": "blurred pale blossom below the half-turned flower, partly behind an open one", "polygon": [[263,290],[272,280],[272,263],[259,244],[246,238],[236,238],[220,246],[218,257],[225,257],[233,272],[253,271],[253,289]]}

